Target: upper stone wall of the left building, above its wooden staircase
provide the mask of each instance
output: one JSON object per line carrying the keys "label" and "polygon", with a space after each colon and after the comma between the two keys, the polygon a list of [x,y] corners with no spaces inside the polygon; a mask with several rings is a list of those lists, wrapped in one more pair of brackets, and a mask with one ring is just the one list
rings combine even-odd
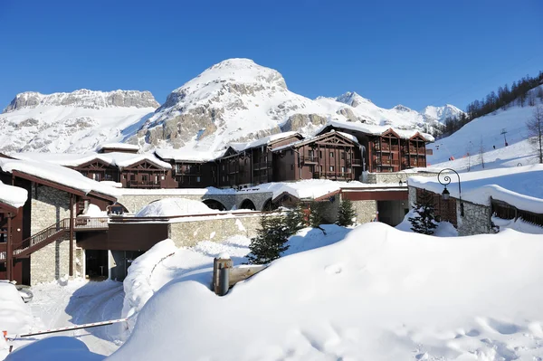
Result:
{"label": "upper stone wall of the left building, above its wooden staircase", "polygon": [[40,185],[32,188],[31,234],[38,233],[64,218],[70,218],[70,194]]}

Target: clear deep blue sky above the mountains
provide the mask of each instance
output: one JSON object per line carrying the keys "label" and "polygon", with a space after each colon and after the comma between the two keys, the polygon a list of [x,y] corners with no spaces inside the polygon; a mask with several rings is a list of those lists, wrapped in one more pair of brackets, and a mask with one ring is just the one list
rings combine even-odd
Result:
{"label": "clear deep blue sky above the mountains", "polygon": [[0,109],[26,90],[164,102],[233,57],[310,98],[354,90],[385,108],[463,109],[543,70],[543,1],[0,0],[0,41]]}

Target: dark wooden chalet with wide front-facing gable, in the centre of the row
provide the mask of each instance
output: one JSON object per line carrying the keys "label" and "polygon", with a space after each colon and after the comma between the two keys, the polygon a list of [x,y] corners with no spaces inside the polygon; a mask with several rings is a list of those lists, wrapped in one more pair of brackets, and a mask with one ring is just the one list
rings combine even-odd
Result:
{"label": "dark wooden chalet with wide front-facing gable, in the centre of the row", "polygon": [[278,147],[273,152],[274,181],[300,179],[356,180],[362,174],[360,146],[334,130]]}

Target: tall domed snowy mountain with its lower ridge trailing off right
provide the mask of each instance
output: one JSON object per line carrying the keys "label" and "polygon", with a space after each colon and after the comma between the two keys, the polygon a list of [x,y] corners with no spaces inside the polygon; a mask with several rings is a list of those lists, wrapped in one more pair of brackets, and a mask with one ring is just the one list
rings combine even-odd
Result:
{"label": "tall domed snowy mountain with its lower ridge trailing off right", "polygon": [[381,109],[352,92],[337,99],[310,100],[288,90],[278,71],[249,59],[229,59],[174,90],[129,141],[144,148],[214,150],[230,141],[280,131],[311,134],[330,119],[425,131],[454,111],[460,110],[451,106],[435,109],[433,118],[429,111],[422,114],[403,106]]}

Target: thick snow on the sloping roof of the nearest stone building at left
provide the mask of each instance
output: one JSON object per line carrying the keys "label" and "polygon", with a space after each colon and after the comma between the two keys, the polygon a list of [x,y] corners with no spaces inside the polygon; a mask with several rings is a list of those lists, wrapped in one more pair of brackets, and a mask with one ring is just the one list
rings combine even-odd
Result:
{"label": "thick snow on the sloping roof of the nearest stone building at left", "polygon": [[0,168],[4,172],[12,173],[18,171],[30,176],[36,176],[60,185],[66,185],[78,189],[86,194],[94,191],[103,195],[116,196],[117,189],[100,182],[82,176],[78,171],[57,166],[54,164],[43,164],[30,160],[18,160],[0,157]]}

